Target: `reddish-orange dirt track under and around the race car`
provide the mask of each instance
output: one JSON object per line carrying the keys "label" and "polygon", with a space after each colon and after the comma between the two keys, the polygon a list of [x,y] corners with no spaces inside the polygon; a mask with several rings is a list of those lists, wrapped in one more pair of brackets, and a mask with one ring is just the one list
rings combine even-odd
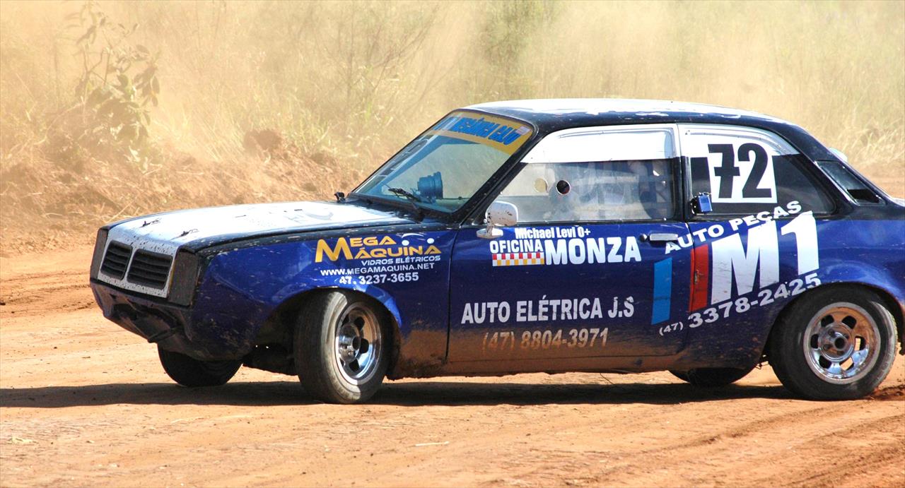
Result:
{"label": "reddish-orange dirt track under and around the race car", "polygon": [[243,369],[177,387],[104,320],[90,249],[0,258],[0,484],[905,485],[905,361],[874,399],[792,399],[769,370],[403,380],[314,402]]}

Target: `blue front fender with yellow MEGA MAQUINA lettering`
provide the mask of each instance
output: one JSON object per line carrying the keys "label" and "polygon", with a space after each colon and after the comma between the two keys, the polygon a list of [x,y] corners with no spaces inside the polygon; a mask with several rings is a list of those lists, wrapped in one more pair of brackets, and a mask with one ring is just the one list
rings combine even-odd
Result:
{"label": "blue front fender with yellow MEGA MAQUINA lettering", "polygon": [[282,304],[316,289],[353,290],[386,307],[398,325],[406,374],[445,361],[449,256],[454,231],[385,233],[224,249],[209,258],[193,306],[193,330],[252,351]]}

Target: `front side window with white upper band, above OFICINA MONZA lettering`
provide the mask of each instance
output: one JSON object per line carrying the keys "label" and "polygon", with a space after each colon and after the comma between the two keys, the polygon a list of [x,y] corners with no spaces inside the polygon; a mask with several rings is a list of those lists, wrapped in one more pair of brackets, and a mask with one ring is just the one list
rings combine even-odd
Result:
{"label": "front side window with white upper band, above OFICINA MONZA lettering", "polygon": [[662,221],[675,213],[673,127],[591,127],[547,136],[499,201],[519,222]]}

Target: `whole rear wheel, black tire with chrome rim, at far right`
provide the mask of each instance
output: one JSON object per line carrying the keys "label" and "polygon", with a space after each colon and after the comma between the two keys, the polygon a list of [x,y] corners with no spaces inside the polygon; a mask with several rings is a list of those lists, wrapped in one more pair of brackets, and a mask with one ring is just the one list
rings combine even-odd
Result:
{"label": "whole rear wheel, black tire with chrome rim, at far right", "polygon": [[895,360],[896,327],[879,296],[834,286],[802,296],[776,322],[769,361],[805,399],[860,399],[880,386]]}

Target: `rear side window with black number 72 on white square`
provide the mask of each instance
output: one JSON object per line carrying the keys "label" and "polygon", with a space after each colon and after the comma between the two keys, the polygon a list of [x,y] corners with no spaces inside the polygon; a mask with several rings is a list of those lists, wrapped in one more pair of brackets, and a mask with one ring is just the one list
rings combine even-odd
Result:
{"label": "rear side window with black number 72 on white square", "polygon": [[803,171],[807,163],[782,138],[749,127],[681,125],[691,196],[710,193],[713,214],[752,214],[799,202],[833,211],[833,202]]}

